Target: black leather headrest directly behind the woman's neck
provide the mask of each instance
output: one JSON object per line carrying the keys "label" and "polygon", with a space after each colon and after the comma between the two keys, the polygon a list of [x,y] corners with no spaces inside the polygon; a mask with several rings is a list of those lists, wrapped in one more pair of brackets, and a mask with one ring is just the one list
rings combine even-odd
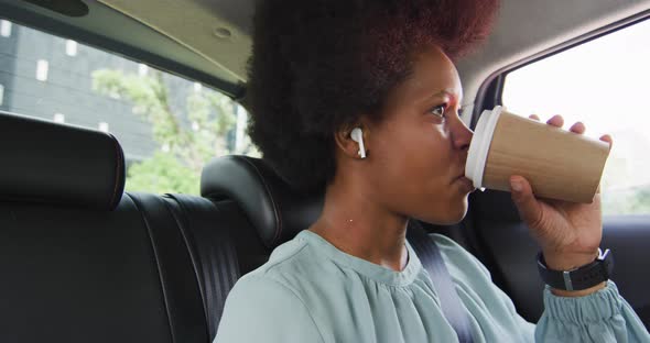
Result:
{"label": "black leather headrest directly behind the woman's neck", "polygon": [[201,176],[201,195],[215,201],[236,201],[269,248],[316,221],[324,200],[324,193],[296,192],[267,163],[248,156],[208,163]]}

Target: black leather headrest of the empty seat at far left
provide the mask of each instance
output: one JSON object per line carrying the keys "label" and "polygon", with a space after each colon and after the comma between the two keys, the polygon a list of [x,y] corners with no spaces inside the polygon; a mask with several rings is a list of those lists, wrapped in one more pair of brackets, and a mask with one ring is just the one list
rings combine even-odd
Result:
{"label": "black leather headrest of the empty seat at far left", "polygon": [[0,111],[0,200],[112,210],[124,156],[110,134]]}

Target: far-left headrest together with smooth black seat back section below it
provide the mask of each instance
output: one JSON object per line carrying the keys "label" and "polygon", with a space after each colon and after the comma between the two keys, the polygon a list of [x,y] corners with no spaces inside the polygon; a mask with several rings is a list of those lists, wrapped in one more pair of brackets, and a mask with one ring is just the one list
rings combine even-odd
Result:
{"label": "far-left headrest together with smooth black seat back section below it", "polygon": [[109,134],[0,113],[0,341],[172,342]]}

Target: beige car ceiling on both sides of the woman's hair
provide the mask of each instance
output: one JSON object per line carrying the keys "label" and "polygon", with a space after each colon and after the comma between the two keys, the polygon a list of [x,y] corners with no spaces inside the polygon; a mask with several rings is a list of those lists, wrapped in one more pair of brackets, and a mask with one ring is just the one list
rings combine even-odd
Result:
{"label": "beige car ceiling on both sides of the woman's hair", "polygon": [[[236,98],[241,95],[246,84],[246,63],[251,49],[253,1],[99,0],[99,3],[86,3],[90,7],[87,20],[95,25],[102,24],[98,23],[98,20],[91,20],[93,15],[112,9],[113,12],[126,14],[140,25],[138,29],[131,23],[133,31],[149,31],[150,35],[158,35],[158,38],[137,38],[128,31],[124,32],[126,30],[107,30],[111,25],[104,27],[104,36],[124,45],[130,44],[150,51],[154,55],[152,57],[163,59],[165,54],[169,55],[167,51],[172,51],[172,44],[175,42],[173,51],[176,54],[169,58],[175,59],[177,65],[170,64],[166,69],[183,74],[181,69],[184,67],[185,70],[197,71],[191,73],[192,75],[185,74],[215,88],[224,89],[226,93]],[[0,10],[3,2],[17,1],[0,0]],[[110,9],[100,9],[100,3]],[[41,15],[48,15],[67,24],[78,24],[79,21],[35,9],[29,3],[20,7],[22,10],[37,11]],[[648,15],[650,0],[501,0],[501,10],[488,41],[475,54],[457,63],[465,87],[466,109],[472,107],[481,85],[485,85],[495,73],[530,60],[531,56],[559,49],[572,40],[596,34],[602,27],[619,25],[632,16],[638,20]],[[37,23],[25,24],[39,26]],[[111,24],[116,27],[116,24],[124,23]],[[78,26],[88,30],[89,25],[86,23]],[[164,37],[167,51],[161,51],[160,44],[163,43],[163,38],[160,36]],[[129,40],[137,42],[133,44]],[[95,42],[94,45],[101,43]],[[184,54],[180,53],[182,49]],[[128,55],[127,52],[121,53]],[[138,58],[143,59],[142,55]],[[161,64],[156,58],[152,58],[151,63],[159,66]]]}

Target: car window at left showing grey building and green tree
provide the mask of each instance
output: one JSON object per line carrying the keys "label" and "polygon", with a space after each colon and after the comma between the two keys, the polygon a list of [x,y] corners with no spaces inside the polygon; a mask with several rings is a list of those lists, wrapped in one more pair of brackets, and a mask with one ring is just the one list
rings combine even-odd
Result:
{"label": "car window at left showing grey building and green tree", "polygon": [[259,153],[248,114],[202,84],[0,20],[0,109],[113,134],[129,191],[198,195],[214,156]]}

